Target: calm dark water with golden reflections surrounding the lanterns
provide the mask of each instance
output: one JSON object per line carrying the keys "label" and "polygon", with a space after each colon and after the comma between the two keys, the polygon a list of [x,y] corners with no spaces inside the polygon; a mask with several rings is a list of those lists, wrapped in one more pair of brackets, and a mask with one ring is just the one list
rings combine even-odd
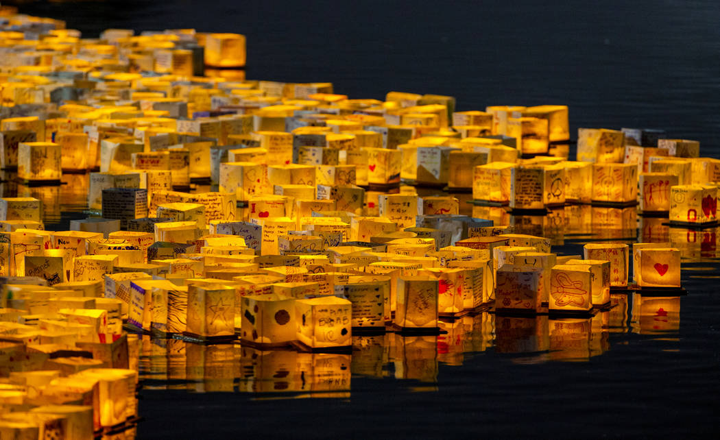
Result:
{"label": "calm dark water with golden reflections surrounding the lanterns", "polygon": [[[720,156],[716,1],[570,3],[85,1],[24,11],[89,36],[107,27],[242,32],[248,78],[333,81],[353,98],[451,94],[459,109],[568,104],[572,127],[664,128]],[[83,209],[86,178],[64,179],[54,189],[5,184],[3,195],[42,198],[52,227]],[[715,230],[670,230],[634,209],[472,213],[551,236],[559,253],[595,239],[672,241],[690,295],[616,297],[618,307],[590,322],[485,314],[439,340],[356,338],[352,356],[143,339],[138,436],[717,436]],[[563,336],[567,326],[573,336]]]}

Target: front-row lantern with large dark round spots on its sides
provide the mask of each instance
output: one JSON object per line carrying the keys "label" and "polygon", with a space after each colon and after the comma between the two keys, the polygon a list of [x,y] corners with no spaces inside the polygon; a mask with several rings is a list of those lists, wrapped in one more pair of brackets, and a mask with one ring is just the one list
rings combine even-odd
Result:
{"label": "front-row lantern with large dark round spots on its sides", "polygon": [[240,340],[245,344],[286,346],[297,339],[295,298],[280,295],[242,297]]}

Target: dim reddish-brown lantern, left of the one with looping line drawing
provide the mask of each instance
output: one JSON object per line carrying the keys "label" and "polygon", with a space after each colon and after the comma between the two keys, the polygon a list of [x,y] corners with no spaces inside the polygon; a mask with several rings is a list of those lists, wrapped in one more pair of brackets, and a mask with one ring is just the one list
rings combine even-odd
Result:
{"label": "dim reddish-brown lantern, left of the one with looping line drawing", "polygon": [[542,269],[532,266],[500,266],[496,275],[495,310],[539,312],[545,288],[543,276]]}

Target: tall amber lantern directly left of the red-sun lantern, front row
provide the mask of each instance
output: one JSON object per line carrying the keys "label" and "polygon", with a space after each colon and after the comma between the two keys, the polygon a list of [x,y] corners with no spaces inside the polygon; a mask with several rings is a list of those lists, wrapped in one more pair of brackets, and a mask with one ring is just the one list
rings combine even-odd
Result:
{"label": "tall amber lantern directly left of the red-sun lantern, front row", "polygon": [[393,322],[400,328],[437,328],[438,280],[399,277],[397,283],[397,310]]}

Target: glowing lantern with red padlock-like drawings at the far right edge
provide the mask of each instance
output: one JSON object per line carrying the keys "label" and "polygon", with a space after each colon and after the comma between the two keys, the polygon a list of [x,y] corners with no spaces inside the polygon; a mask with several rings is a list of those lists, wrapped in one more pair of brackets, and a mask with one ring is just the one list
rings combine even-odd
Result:
{"label": "glowing lantern with red padlock-like drawings at the far right edge", "polygon": [[676,185],[670,187],[670,223],[703,225],[716,223],[717,187]]}

